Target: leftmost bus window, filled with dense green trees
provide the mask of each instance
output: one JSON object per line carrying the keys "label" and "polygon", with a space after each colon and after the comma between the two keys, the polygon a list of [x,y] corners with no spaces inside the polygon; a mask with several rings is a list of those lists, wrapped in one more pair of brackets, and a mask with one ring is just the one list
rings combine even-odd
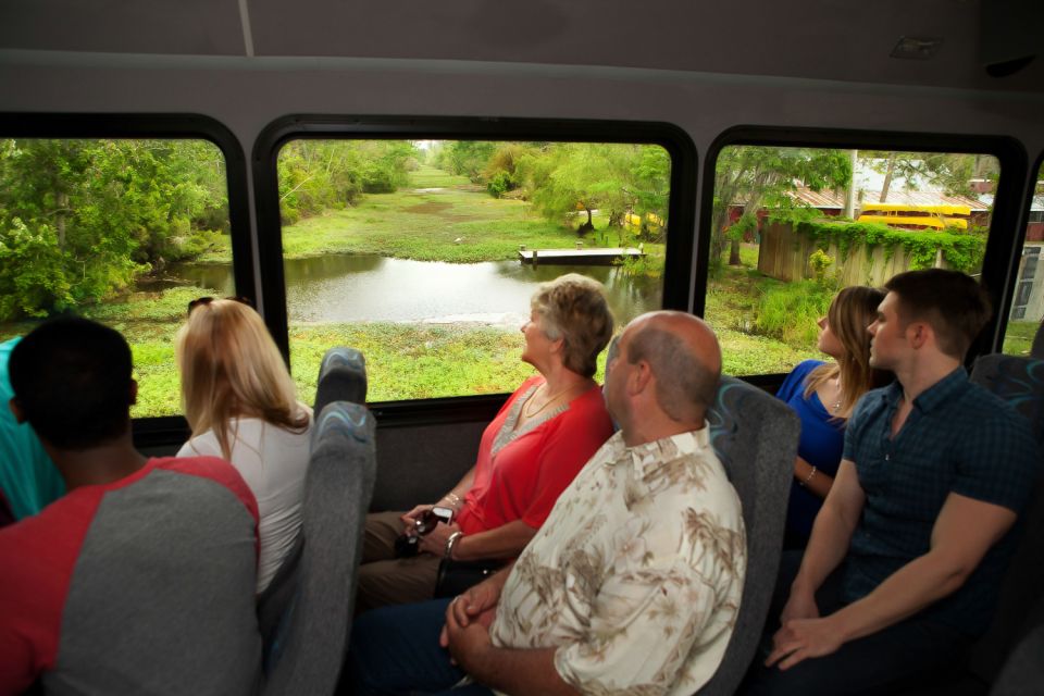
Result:
{"label": "leftmost bus window, filled with dense green trees", "polygon": [[179,413],[188,301],[234,294],[225,169],[202,139],[0,139],[0,340],[100,321],[134,351],[132,415]]}

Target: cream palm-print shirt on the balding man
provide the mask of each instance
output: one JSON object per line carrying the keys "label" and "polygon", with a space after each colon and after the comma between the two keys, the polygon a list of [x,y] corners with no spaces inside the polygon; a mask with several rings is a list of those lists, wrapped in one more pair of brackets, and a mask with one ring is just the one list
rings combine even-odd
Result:
{"label": "cream palm-print shirt on the balding man", "polygon": [[707,424],[636,447],[617,433],[519,557],[493,643],[557,646],[559,675],[584,694],[692,694],[724,656],[746,564]]}

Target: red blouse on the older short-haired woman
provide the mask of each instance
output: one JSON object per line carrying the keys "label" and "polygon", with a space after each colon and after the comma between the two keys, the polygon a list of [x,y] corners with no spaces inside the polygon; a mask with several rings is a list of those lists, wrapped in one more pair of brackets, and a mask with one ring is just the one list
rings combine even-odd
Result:
{"label": "red blouse on the older short-haired woman", "polygon": [[464,534],[494,530],[514,520],[539,529],[566,486],[612,435],[612,420],[596,385],[570,401],[564,411],[515,436],[494,453],[497,433],[512,409],[523,406],[519,399],[543,383],[539,375],[526,380],[482,434],[475,480],[457,515]]}

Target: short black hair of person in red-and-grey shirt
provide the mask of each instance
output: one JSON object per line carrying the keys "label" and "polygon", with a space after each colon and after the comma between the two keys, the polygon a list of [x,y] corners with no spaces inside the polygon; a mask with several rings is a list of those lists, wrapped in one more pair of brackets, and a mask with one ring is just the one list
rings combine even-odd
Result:
{"label": "short black hair of person in red-and-grey shirt", "polygon": [[119,332],[78,318],[40,324],[11,351],[11,386],[40,439],[88,449],[130,420],[130,347]]}

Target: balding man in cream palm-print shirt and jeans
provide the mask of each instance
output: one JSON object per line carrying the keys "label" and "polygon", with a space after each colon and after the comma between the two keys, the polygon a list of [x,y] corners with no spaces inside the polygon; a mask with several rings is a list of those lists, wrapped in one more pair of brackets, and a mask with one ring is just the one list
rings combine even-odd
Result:
{"label": "balding man in cream palm-print shirt and jeans", "polygon": [[[621,431],[513,568],[452,600],[359,617],[352,693],[696,693],[724,656],[746,572],[739,498],[706,420],[720,370],[695,316],[631,322],[605,388]],[[453,688],[464,676],[474,683]]]}

